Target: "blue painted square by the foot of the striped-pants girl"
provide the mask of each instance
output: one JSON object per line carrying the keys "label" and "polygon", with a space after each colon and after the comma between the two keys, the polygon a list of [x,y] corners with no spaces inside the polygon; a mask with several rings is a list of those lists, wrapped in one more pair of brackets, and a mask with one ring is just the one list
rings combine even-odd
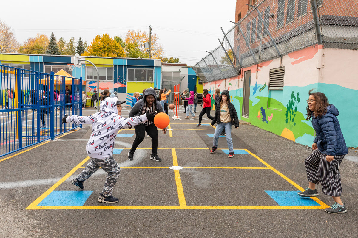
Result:
{"label": "blue painted square by the foot of the striped-pants girl", "polygon": [[280,206],[320,206],[312,198],[300,197],[301,191],[265,191]]}

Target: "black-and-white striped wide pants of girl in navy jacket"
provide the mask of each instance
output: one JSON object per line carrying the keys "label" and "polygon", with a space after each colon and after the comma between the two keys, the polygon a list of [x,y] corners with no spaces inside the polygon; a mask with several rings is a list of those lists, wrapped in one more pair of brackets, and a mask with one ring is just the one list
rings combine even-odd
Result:
{"label": "black-and-white striped wide pants of girl in navy jacket", "polygon": [[345,155],[335,155],[333,161],[326,161],[326,154],[318,149],[313,151],[305,159],[308,182],[322,184],[322,190],[325,195],[340,197],[342,185],[340,183],[339,164]]}

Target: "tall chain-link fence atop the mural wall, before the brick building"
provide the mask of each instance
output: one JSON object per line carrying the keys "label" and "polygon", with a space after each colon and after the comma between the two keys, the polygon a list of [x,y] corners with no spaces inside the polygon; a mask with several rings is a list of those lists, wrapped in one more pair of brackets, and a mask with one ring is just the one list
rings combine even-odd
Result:
{"label": "tall chain-link fence atop the mural wall, before the brick building", "polygon": [[[262,0],[227,32],[194,71],[204,82],[308,46],[358,49],[358,0]],[[313,7],[312,7],[313,6]]]}

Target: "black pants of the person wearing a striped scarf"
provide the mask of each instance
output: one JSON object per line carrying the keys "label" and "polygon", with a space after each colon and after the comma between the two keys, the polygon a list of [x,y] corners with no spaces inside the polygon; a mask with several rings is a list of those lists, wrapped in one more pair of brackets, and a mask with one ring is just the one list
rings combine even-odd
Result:
{"label": "black pants of the person wearing a striped scarf", "polygon": [[134,126],[134,130],[135,139],[131,151],[136,151],[139,144],[144,140],[145,132],[147,132],[150,138],[152,138],[152,155],[156,155],[158,153],[158,128],[154,123],[151,123],[149,126],[146,126],[145,124]]}

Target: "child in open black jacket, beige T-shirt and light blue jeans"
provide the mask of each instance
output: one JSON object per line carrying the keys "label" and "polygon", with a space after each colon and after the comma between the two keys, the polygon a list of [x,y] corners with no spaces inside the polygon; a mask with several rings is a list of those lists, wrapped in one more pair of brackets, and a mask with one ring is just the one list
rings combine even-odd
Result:
{"label": "child in open black jacket, beige T-shirt and light blue jeans", "polygon": [[214,153],[218,149],[219,136],[223,129],[226,131],[226,141],[229,148],[228,157],[231,158],[234,156],[233,144],[231,139],[231,126],[235,125],[235,128],[239,127],[239,119],[234,105],[230,102],[229,91],[224,90],[221,93],[221,98],[218,103],[218,106],[215,108],[214,120],[211,122],[213,126],[217,123],[214,133],[214,146],[210,150],[210,153]]}

